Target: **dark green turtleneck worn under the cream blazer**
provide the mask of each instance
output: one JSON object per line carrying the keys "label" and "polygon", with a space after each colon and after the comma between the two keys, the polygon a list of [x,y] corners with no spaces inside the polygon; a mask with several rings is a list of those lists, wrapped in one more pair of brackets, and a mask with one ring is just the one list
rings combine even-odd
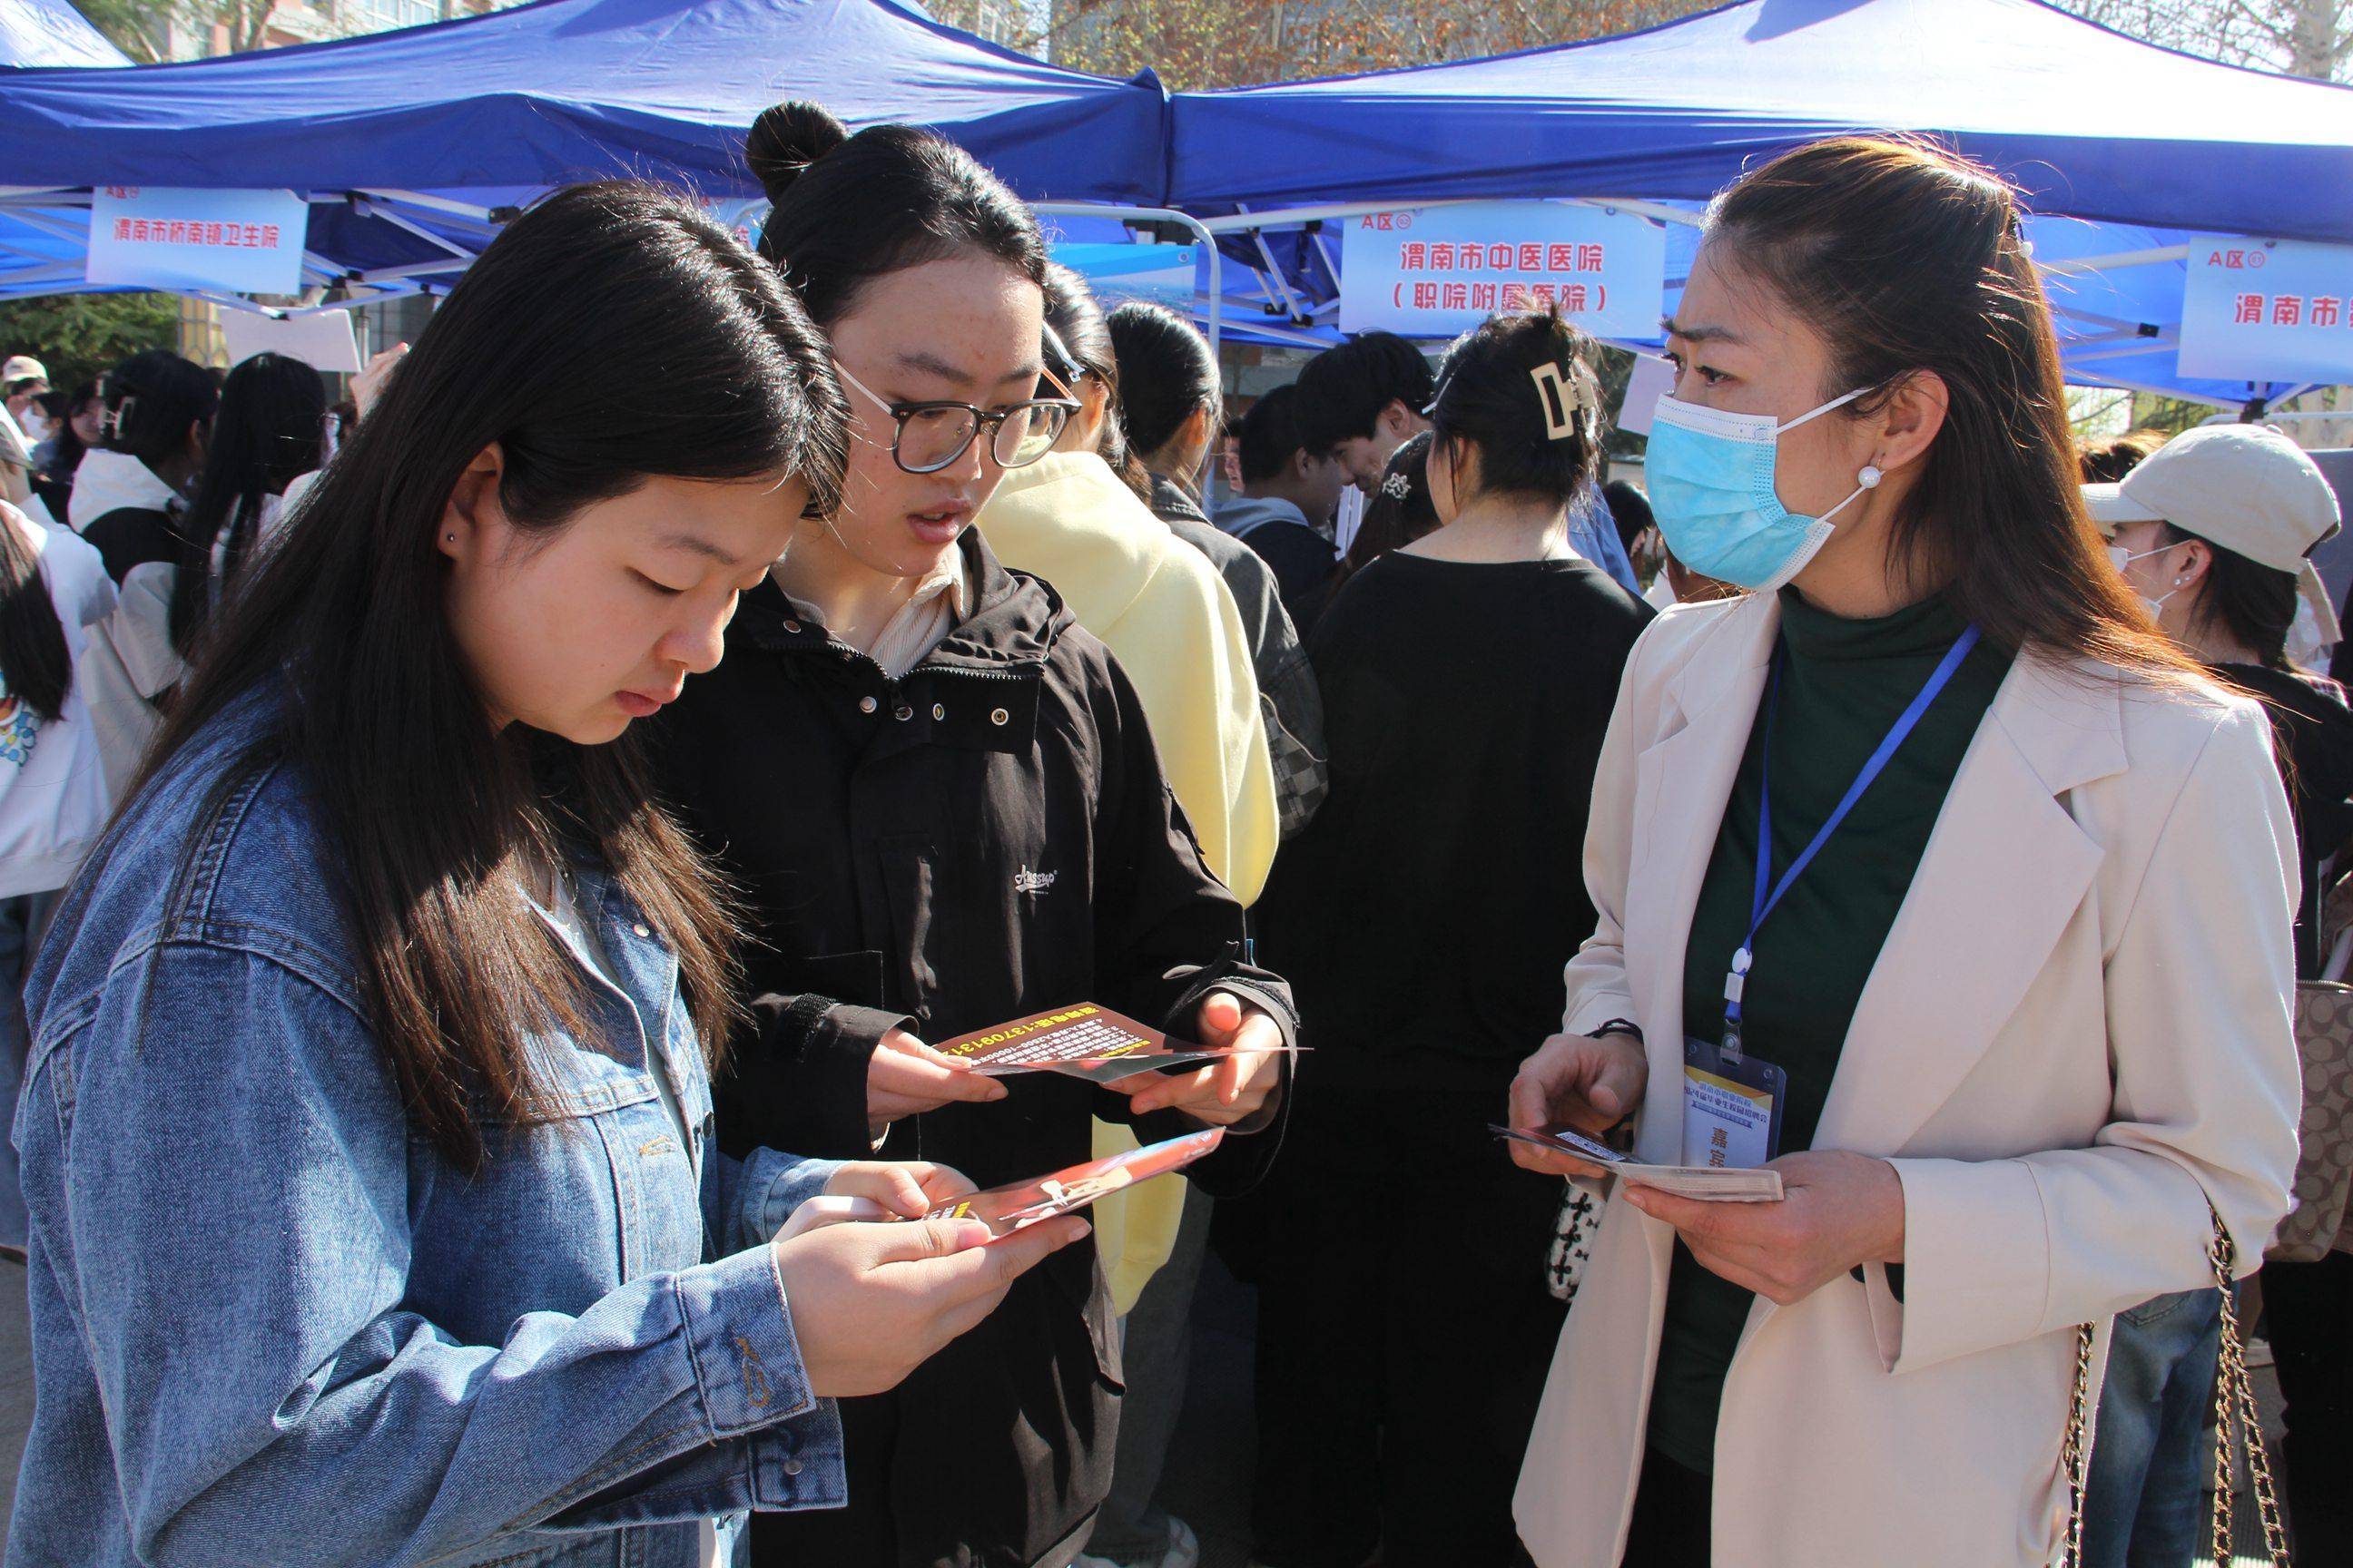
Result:
{"label": "dark green turtleneck worn under the cream blazer", "polygon": [[[1944,599],[1892,616],[1840,621],[1781,590],[1781,701],[1772,724],[1772,872],[1805,849],[1864,762],[1920,693],[1962,623]],[[1894,926],[1960,757],[1969,750],[2009,656],[1979,642],[1845,825],[1765,919],[1741,994],[1741,1044],[1788,1074],[1781,1152],[1807,1150],[1831,1098],[1838,1053],[1864,980]],[[1765,795],[1765,703],[1748,731],[1708,879],[1692,910],[1682,964],[1682,1027],[1718,1041],[1725,971],[1748,933],[1758,802]],[[1715,1467],[1715,1408],[1753,1295],[1675,1244],[1666,1331],[1649,1401],[1649,1443],[1697,1472]]]}

